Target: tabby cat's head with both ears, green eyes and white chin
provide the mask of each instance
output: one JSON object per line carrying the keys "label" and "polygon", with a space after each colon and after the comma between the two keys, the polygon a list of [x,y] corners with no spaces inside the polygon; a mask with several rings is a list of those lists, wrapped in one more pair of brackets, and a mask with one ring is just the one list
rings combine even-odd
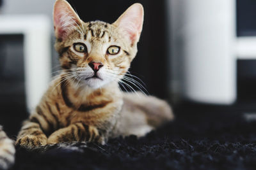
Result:
{"label": "tabby cat's head with both ears, green eyes and white chin", "polygon": [[65,0],[54,5],[55,48],[67,76],[93,89],[119,81],[137,53],[143,7],[133,4],[113,24],[83,22]]}

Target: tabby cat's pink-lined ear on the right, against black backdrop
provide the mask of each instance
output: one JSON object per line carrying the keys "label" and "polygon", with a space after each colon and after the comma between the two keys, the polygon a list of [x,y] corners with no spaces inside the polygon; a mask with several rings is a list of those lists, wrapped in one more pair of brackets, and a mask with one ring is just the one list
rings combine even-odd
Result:
{"label": "tabby cat's pink-lined ear on the right, against black backdrop", "polygon": [[140,3],[132,4],[114,23],[118,29],[125,32],[131,43],[137,43],[140,39],[144,18],[143,6]]}

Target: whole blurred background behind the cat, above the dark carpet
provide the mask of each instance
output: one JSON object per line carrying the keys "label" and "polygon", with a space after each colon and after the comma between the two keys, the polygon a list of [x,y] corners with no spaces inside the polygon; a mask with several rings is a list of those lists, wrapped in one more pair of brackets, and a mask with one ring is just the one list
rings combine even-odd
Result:
{"label": "whole blurred background behind the cat, above the dark carpet", "polygon": [[[68,2],[85,22],[109,23],[131,4],[143,4],[143,32],[130,72],[145,83],[148,94],[180,108],[255,110],[256,1]],[[12,135],[59,69],[53,4],[0,0],[0,124]]]}

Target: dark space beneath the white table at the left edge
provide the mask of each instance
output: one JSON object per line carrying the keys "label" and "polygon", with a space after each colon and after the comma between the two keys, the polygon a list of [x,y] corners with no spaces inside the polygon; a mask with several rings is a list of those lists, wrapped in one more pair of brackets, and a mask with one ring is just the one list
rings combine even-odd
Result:
{"label": "dark space beneath the white table at the left edge", "polygon": [[22,34],[0,35],[0,125],[10,137],[17,134],[28,117],[23,41]]}

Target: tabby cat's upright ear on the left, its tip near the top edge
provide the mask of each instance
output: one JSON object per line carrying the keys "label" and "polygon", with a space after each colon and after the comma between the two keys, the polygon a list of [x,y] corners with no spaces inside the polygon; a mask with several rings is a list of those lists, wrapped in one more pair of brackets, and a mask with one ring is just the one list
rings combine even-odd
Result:
{"label": "tabby cat's upright ear on the left, its tip near the top edge", "polygon": [[81,24],[81,19],[67,1],[57,0],[54,4],[53,22],[56,38],[65,39],[74,27]]}

